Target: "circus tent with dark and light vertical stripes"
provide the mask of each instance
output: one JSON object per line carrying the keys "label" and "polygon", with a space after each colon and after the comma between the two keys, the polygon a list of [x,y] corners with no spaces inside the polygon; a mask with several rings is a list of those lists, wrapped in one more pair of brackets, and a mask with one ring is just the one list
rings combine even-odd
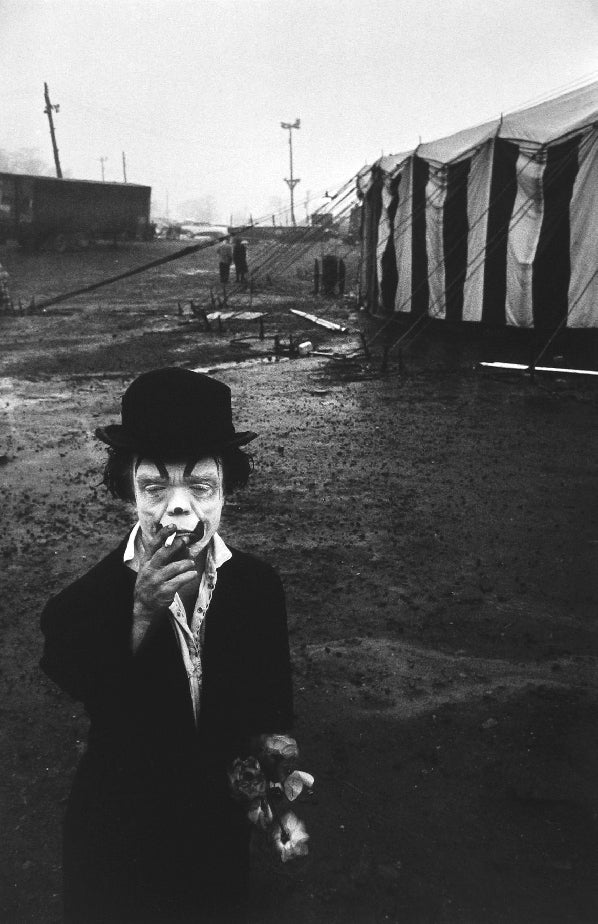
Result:
{"label": "circus tent with dark and light vertical stripes", "polygon": [[361,171],[374,313],[598,327],[598,82]]}

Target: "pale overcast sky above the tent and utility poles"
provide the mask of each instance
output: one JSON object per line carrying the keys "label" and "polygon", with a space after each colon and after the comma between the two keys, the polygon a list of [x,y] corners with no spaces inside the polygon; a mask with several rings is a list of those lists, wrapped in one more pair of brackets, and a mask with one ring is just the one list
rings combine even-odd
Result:
{"label": "pale overcast sky above the tent and utility poles", "polygon": [[0,0],[0,148],[153,187],[163,213],[288,204],[297,219],[381,153],[598,77],[597,0]]}

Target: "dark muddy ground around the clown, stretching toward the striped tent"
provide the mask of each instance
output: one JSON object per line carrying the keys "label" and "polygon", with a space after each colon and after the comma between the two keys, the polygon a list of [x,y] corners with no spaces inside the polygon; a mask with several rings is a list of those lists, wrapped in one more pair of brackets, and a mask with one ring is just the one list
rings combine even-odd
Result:
{"label": "dark muddy ground around the clown, stretching toward the striped tent", "polygon": [[[25,306],[174,249],[0,261]],[[86,723],[38,669],[38,614],[130,522],[99,486],[93,429],[136,373],[174,363],[217,368],[260,434],[222,532],[283,577],[317,779],[298,808],[310,856],[278,866],[256,846],[255,924],[595,922],[598,386],[483,372],[513,357],[427,334],[382,375],[378,353],[349,358],[376,325],[351,297],[312,298],[313,253],[297,256],[251,299],[230,293],[267,312],[265,340],[190,313],[211,307],[211,253],[0,317],[0,920],[60,920]],[[339,355],[256,362],[276,332]]]}

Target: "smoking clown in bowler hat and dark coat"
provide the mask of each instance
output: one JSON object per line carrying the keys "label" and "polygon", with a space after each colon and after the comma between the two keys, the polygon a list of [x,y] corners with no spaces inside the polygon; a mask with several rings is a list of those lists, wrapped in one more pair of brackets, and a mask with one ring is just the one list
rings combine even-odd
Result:
{"label": "smoking clown in bowler hat and dark coat", "polygon": [[65,921],[242,920],[250,825],[227,770],[292,723],[280,580],[219,533],[256,434],[235,430],[226,385],[184,369],[141,375],[122,423],[96,434],[135,523],[42,614],[42,668],[90,719],[64,826]]}

